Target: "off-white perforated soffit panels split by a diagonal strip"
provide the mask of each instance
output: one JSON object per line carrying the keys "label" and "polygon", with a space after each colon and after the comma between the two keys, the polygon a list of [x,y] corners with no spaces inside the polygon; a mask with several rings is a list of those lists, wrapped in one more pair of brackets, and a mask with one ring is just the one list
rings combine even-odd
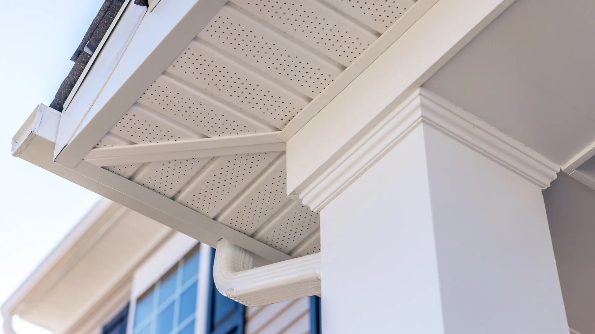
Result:
{"label": "off-white perforated soffit panels split by a diagonal strip", "polygon": [[[230,1],[96,147],[279,131],[414,2]],[[320,251],[284,152],[104,168],[284,253]]]}

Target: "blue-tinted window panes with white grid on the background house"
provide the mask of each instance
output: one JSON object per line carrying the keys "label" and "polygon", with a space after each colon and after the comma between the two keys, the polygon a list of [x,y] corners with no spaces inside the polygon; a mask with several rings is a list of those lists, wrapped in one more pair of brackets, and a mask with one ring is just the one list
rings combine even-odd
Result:
{"label": "blue-tinted window panes with white grid on the background house", "polygon": [[136,302],[133,334],[193,334],[198,251],[189,253]]}

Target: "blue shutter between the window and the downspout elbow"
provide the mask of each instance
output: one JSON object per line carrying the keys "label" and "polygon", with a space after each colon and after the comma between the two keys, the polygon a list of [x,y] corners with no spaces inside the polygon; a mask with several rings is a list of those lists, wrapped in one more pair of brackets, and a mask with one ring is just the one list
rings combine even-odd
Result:
{"label": "blue shutter between the window and the downspout elbow", "polygon": [[246,307],[220,294],[213,282],[215,251],[211,254],[211,283],[209,284],[209,308],[206,334],[244,334]]}

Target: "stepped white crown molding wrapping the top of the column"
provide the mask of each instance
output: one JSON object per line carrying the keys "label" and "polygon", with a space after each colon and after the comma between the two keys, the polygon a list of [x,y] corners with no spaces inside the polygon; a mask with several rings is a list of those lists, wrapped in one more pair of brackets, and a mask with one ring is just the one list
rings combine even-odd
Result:
{"label": "stepped white crown molding wrapping the top of the column", "polygon": [[429,125],[499,163],[540,188],[547,188],[560,168],[487,122],[425,89],[416,90],[367,134],[334,160],[330,168],[299,194],[303,204],[320,212],[418,125]]}

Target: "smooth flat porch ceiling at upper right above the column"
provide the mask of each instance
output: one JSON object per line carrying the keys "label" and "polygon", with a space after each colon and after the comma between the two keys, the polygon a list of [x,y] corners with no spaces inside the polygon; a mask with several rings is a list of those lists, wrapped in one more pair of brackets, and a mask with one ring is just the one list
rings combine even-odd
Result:
{"label": "smooth flat porch ceiling at upper right above the column", "polygon": [[563,165],[595,141],[594,14],[517,0],[424,87]]}

